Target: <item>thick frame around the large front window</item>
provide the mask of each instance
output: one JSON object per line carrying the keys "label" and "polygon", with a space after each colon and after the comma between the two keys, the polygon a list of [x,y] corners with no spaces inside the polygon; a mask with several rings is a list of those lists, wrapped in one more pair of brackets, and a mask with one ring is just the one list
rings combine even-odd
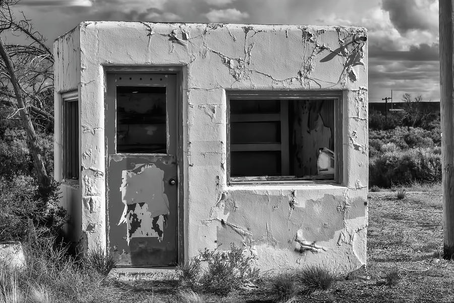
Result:
{"label": "thick frame around the large front window", "polygon": [[[313,180],[297,176],[231,177],[231,100],[334,100],[334,179]],[[227,183],[228,185],[254,184],[326,184],[343,182],[343,92],[342,91],[226,91],[226,132],[227,132]],[[289,131],[284,129],[281,131]],[[288,141],[286,142],[288,144]]]}

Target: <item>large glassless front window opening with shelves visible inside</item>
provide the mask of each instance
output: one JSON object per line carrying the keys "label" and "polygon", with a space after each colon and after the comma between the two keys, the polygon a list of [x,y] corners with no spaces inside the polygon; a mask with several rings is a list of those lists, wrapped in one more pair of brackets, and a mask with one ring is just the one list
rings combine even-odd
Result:
{"label": "large glassless front window opening with shelves visible inside", "polygon": [[230,95],[229,181],[335,180],[338,102]]}

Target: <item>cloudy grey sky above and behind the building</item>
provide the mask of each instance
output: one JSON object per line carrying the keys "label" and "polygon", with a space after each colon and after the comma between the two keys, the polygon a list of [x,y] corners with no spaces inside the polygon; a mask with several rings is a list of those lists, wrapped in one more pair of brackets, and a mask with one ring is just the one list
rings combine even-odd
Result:
{"label": "cloudy grey sky above and behind the building", "polygon": [[50,41],[81,21],[360,25],[369,30],[369,101],[439,100],[436,0],[21,0]]}

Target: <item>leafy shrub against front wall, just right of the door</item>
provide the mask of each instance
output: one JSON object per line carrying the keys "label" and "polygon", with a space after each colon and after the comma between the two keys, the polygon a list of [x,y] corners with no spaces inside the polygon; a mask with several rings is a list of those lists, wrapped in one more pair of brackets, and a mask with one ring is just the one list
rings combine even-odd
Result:
{"label": "leafy shrub against front wall, just right of the door", "polygon": [[224,295],[258,278],[259,270],[251,264],[253,257],[245,256],[234,244],[228,251],[205,248],[199,258],[207,264],[200,279],[204,291]]}

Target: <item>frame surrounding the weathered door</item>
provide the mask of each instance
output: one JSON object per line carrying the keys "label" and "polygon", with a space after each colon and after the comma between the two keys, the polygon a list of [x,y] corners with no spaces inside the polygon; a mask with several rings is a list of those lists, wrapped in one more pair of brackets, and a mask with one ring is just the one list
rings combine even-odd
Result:
{"label": "frame surrounding the weathered door", "polygon": [[[177,262],[178,264],[184,264],[185,262],[185,242],[184,242],[184,161],[183,161],[183,69],[182,65],[172,66],[150,66],[150,65],[103,65],[103,83],[104,83],[104,117],[106,115],[107,105],[107,74],[173,74],[176,75],[177,91],[176,91],[176,131],[177,131]],[[104,118],[104,127],[105,127]],[[109,243],[109,212],[108,212],[108,153],[107,139],[104,136],[104,148],[105,148],[105,239],[106,239],[106,251],[108,253]]]}

